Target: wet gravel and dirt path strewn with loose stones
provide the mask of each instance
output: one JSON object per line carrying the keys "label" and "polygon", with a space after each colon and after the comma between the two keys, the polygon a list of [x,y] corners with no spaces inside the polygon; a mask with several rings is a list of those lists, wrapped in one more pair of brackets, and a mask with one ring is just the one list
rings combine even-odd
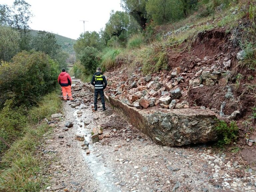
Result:
{"label": "wet gravel and dirt path strewn with loose stones", "polygon": [[[69,101],[63,102],[65,117],[52,123],[56,128],[42,152],[54,160],[49,165],[46,177],[50,184],[45,191],[256,191],[255,170],[244,171],[242,161],[214,154],[205,145],[156,145],[109,106],[104,112],[92,112],[93,94],[86,86],[79,86],[75,98],[78,102],[87,98],[89,102],[75,108]],[[78,97],[82,94],[86,96]],[[64,131],[67,121],[74,125]],[[92,144],[91,132],[97,125],[104,128],[105,137]],[[84,135],[90,143],[89,154],[81,149],[84,141],[75,140],[76,134]]]}

